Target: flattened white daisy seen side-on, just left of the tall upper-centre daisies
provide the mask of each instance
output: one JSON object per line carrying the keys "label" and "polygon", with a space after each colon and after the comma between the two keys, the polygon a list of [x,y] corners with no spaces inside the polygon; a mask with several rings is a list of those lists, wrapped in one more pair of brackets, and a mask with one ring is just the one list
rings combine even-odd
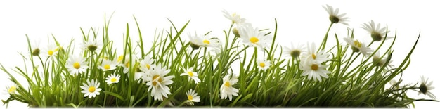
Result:
{"label": "flattened white daisy seen side-on, just left of the tall upper-centre daisies", "polygon": [[193,49],[199,49],[200,47],[211,47],[214,49],[219,49],[221,46],[221,41],[216,37],[209,37],[205,34],[191,35],[188,34],[190,38],[190,46]]}

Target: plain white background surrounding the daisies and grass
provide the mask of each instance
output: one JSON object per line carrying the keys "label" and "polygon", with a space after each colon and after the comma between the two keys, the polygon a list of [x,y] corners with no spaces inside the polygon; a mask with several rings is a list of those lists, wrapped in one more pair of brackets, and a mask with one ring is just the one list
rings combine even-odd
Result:
{"label": "plain white background surrounding the daisies and grass", "polygon": [[[361,24],[370,20],[388,25],[392,34],[396,31],[392,58],[394,65],[405,58],[420,33],[411,64],[403,72],[403,83],[415,84],[420,81],[420,76],[425,75],[434,81],[433,86],[437,88],[432,93],[440,97],[439,71],[436,70],[440,58],[436,56],[438,50],[435,48],[440,37],[440,17],[437,15],[440,7],[434,1],[0,1],[0,63],[6,68],[22,66],[22,58],[18,53],[27,53],[25,34],[31,42],[41,39],[41,48],[46,47],[51,34],[65,45],[74,38],[77,40],[75,46],[79,46],[82,40],[79,27],[85,31],[93,27],[102,33],[104,15],[109,18],[113,12],[109,30],[110,38],[116,44],[121,43],[127,23],[131,28],[131,37],[137,40],[133,16],[138,20],[147,43],[153,38],[156,29],[169,29],[171,24],[167,18],[177,27],[190,20],[184,34],[212,31],[212,35],[224,37],[223,30],[231,25],[231,21],[221,13],[224,9],[238,13],[254,27],[271,31],[275,29],[276,18],[276,41],[280,45],[288,46],[291,42],[321,43],[330,25],[328,13],[321,7],[325,4],[339,8],[339,13],[347,13],[350,18],[348,27],[354,28],[357,39],[370,41],[368,32],[361,29]],[[347,26],[335,25],[330,30],[329,43],[334,41],[332,34],[337,33],[342,38],[346,32]],[[50,42],[53,43],[52,40]],[[391,40],[386,43],[391,43]],[[3,71],[0,77],[0,98],[6,100],[6,86],[13,83]],[[25,79],[21,80],[25,82]],[[428,98],[422,94],[418,96],[416,91],[409,91],[408,94],[413,98]],[[415,102],[416,108],[435,105],[440,103]],[[5,105],[1,106],[5,108]],[[24,103],[13,101],[8,108],[26,107]]]}

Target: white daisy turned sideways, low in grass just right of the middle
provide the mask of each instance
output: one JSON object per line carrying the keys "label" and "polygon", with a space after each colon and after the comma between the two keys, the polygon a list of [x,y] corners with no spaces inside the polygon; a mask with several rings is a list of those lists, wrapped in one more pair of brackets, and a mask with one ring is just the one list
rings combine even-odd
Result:
{"label": "white daisy turned sideways, low in grass just right of the middle", "polygon": [[238,89],[232,87],[238,82],[236,76],[229,78],[230,75],[223,77],[223,84],[220,86],[220,98],[226,99],[229,97],[229,101],[232,101],[232,96],[238,96]]}

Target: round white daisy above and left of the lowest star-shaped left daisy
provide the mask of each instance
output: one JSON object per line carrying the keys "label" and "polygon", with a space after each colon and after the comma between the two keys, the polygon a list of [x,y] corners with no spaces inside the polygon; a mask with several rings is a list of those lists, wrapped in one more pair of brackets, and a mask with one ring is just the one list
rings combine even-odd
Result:
{"label": "round white daisy above and left of the lowest star-shaped left daisy", "polygon": [[86,59],[82,58],[82,56],[69,56],[67,60],[67,64],[65,65],[67,70],[69,70],[70,74],[77,75],[78,73],[86,72],[86,69],[89,68],[86,63]]}

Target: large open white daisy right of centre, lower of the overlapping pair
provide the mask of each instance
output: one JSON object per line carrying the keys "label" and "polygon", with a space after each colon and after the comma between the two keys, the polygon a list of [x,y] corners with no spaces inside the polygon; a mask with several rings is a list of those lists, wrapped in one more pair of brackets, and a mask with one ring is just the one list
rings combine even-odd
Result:
{"label": "large open white daisy right of centre, lower of the overlapping pair", "polygon": [[313,60],[307,60],[306,62],[299,65],[300,70],[304,70],[302,72],[303,76],[308,76],[308,79],[313,78],[314,81],[318,80],[321,82],[321,77],[328,78],[328,73],[330,71],[325,70],[328,65],[321,65],[321,63],[316,63]]}

